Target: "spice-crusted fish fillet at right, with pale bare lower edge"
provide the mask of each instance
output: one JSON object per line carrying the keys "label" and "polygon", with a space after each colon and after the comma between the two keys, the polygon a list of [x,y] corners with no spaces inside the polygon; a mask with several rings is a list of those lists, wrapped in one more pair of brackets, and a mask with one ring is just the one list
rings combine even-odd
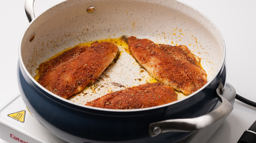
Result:
{"label": "spice-crusted fish fillet at right, with pale bare lower edge", "polygon": [[128,38],[132,56],[155,79],[189,95],[207,83],[200,58],[184,45],[155,44],[148,39]]}

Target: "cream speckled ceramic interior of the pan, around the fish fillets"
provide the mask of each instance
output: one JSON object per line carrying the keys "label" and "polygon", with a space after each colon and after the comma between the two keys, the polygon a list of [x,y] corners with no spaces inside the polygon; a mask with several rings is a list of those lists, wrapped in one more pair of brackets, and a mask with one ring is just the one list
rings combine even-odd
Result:
{"label": "cream speckled ceramic interior of the pan, around the fish fillets", "polygon": [[[91,6],[96,9],[88,13],[87,8]],[[33,33],[35,37],[30,42]],[[159,44],[186,45],[194,55],[201,58],[208,83],[224,64],[224,40],[215,24],[197,10],[174,0],[62,2],[31,22],[21,39],[20,60],[33,79],[40,63],[67,48],[122,35],[147,38]],[[114,92],[153,82],[151,76],[126,52],[125,47],[118,48],[120,55],[99,80],[68,100],[85,104],[110,90]]]}

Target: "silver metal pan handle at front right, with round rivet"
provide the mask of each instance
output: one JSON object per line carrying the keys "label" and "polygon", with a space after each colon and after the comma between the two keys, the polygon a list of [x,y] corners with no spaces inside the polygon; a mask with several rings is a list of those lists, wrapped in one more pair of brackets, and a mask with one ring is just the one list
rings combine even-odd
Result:
{"label": "silver metal pan handle at front right, with round rivet", "polygon": [[221,83],[216,89],[221,105],[212,112],[196,118],[169,119],[154,122],[149,125],[150,136],[156,136],[165,132],[191,132],[207,127],[218,120],[227,117],[233,110],[233,106],[222,96],[224,86]]}

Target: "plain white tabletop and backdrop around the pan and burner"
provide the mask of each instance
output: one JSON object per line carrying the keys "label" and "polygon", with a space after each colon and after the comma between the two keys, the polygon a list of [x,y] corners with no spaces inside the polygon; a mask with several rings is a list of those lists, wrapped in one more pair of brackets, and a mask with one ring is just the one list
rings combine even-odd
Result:
{"label": "plain white tabletop and backdrop around the pan and burner", "polygon": [[[62,0],[36,0],[35,16]],[[256,1],[182,0],[204,13],[221,31],[226,45],[227,82],[237,94],[256,102]],[[19,93],[18,45],[29,25],[25,0],[0,1],[0,105]],[[234,109],[207,143],[234,143],[256,120],[256,108],[235,100]],[[0,139],[0,143],[5,141]]]}

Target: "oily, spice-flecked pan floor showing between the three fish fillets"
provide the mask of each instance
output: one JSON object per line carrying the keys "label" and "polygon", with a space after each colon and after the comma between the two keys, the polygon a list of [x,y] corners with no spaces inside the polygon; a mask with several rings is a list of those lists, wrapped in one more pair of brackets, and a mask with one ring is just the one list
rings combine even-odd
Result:
{"label": "oily, spice-flecked pan floor showing between the three fish fillets", "polygon": [[[127,43],[121,38],[103,39],[97,41],[99,43],[102,41],[115,43],[118,47],[117,56],[94,83],[88,84],[81,92],[71,96],[67,100],[84,105],[85,103],[104,96],[107,93],[146,83],[157,82],[157,80],[150,76],[148,72],[143,69],[130,55]],[[93,42],[95,41],[81,43],[75,45],[74,47],[90,46]],[[54,57],[57,57],[63,52],[74,47],[70,47],[56,54],[50,59],[53,59]],[[38,73],[38,69],[36,70],[36,73]],[[37,80],[39,76],[36,75],[34,78]],[[185,97],[185,95],[183,95],[181,92],[176,93],[178,94],[178,100]]]}

